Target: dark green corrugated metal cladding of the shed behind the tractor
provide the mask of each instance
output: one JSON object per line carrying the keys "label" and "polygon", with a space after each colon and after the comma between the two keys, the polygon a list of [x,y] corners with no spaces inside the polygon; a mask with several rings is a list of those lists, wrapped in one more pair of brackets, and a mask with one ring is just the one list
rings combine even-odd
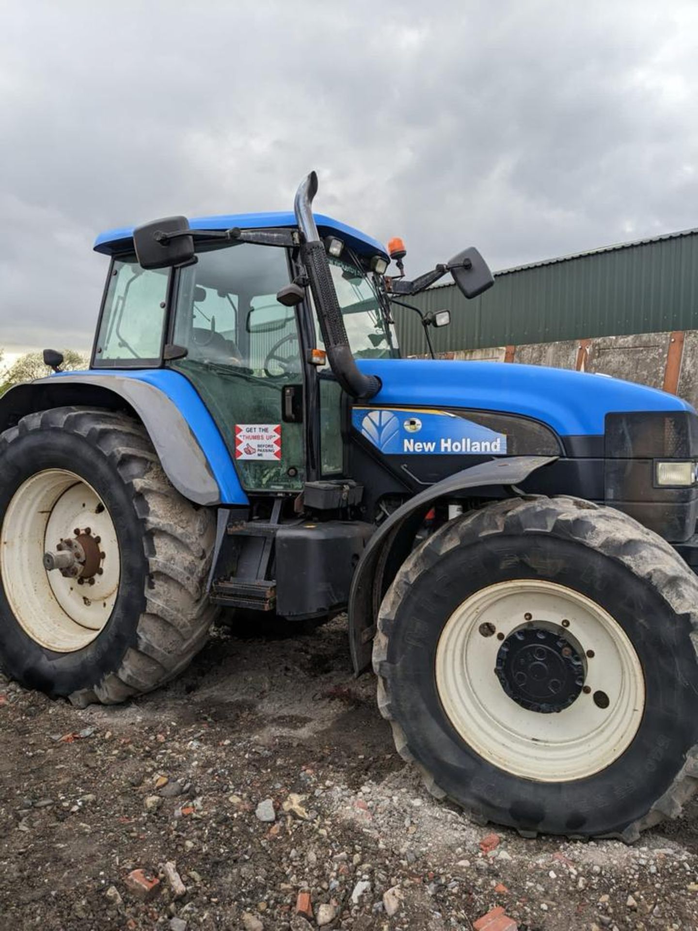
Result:
{"label": "dark green corrugated metal cladding of the shed behind the tractor", "polygon": [[[472,301],[448,284],[409,302],[450,310],[436,352],[698,329],[698,229],[506,269]],[[394,316],[402,354],[423,355],[419,316]]]}

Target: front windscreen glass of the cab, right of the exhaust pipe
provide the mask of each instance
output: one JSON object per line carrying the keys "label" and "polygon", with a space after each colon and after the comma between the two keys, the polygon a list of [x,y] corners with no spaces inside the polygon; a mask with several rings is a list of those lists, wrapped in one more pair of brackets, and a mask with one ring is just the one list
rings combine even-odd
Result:
{"label": "front windscreen glass of the cab, right of the exhaust pipe", "polygon": [[[329,268],[355,358],[395,357],[395,333],[383,316],[373,282],[355,264],[342,259],[329,256]],[[319,333],[317,344],[322,345]]]}

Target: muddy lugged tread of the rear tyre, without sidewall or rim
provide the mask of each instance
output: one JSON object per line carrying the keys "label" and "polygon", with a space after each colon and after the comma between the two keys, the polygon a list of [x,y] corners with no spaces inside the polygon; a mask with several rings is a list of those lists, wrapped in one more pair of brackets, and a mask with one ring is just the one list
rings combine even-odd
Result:
{"label": "muddy lugged tread of the rear tyre, without sidewall or rim", "polygon": [[149,574],[137,641],[113,673],[68,696],[81,708],[116,704],[172,679],[206,643],[218,614],[206,585],[215,518],[210,508],[195,506],[176,491],[145,427],[121,412],[63,407],[30,413],[0,435],[0,450],[34,430],[55,429],[82,436],[109,459],[133,492],[142,526]]}

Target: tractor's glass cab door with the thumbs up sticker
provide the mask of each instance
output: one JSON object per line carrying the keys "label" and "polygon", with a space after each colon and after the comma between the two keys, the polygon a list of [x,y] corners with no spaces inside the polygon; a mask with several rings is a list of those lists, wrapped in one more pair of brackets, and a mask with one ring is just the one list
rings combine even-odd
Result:
{"label": "tractor's glass cab door with the thumbs up sticker", "polygon": [[297,320],[275,298],[288,283],[286,250],[242,243],[199,250],[175,284],[171,342],[187,355],[168,365],[195,385],[250,492],[305,479]]}

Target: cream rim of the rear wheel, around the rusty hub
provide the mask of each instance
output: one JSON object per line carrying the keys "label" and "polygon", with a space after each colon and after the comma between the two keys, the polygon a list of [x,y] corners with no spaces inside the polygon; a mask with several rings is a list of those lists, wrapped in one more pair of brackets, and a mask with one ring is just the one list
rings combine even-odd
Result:
{"label": "cream rim of the rear wheel, around the rusty hub", "polygon": [[[44,553],[87,528],[100,538],[101,573],[81,585],[59,570],[47,572]],[[93,641],[114,610],[121,562],[114,523],[92,486],[64,469],[27,479],[3,520],[0,573],[12,613],[32,640],[56,653]]]}

